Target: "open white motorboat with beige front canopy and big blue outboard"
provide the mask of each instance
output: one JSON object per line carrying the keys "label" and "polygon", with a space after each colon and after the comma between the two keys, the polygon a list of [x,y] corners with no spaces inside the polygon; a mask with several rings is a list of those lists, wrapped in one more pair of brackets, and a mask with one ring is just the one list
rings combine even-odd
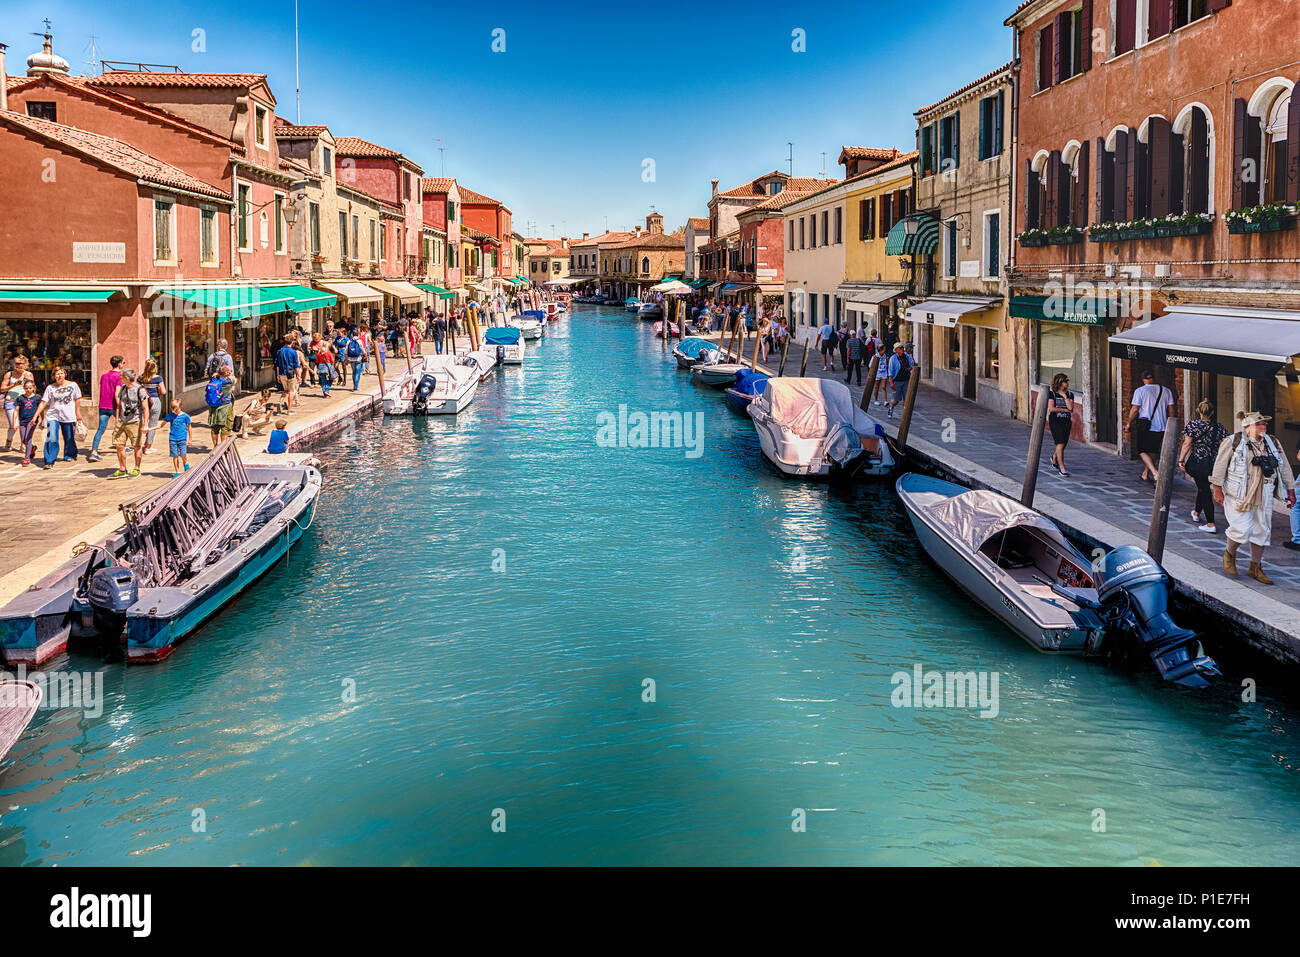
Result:
{"label": "open white motorboat with beige front canopy and big blue outboard", "polygon": [[898,478],[922,547],[963,592],[1040,651],[1145,651],[1160,674],[1205,688],[1219,674],[1200,636],[1169,614],[1169,575],[1124,545],[1098,562],[1054,521],[988,489],[909,473]]}

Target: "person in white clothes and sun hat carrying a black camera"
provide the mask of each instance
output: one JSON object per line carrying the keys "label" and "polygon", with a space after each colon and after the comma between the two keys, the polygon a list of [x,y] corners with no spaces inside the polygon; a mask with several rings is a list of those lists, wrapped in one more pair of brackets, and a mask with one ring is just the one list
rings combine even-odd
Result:
{"label": "person in white clothes and sun hat carrying a black camera", "polygon": [[1227,550],[1223,571],[1236,577],[1236,550],[1251,545],[1251,568],[1247,575],[1261,585],[1273,580],[1264,573],[1264,547],[1273,534],[1273,499],[1296,503],[1296,481],[1287,455],[1277,439],[1268,434],[1269,416],[1258,412],[1242,415],[1242,430],[1219,445],[1210,485],[1214,501],[1227,516]]}

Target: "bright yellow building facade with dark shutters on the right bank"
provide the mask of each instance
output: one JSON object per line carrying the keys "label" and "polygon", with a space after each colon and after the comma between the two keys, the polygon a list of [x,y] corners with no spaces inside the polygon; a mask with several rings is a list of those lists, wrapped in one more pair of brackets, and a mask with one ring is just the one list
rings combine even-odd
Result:
{"label": "bright yellow building facade with dark shutters on the right bank", "polygon": [[913,212],[913,177],[916,153],[875,166],[845,182],[846,246],[844,285],[840,295],[848,320],[876,329],[884,337],[893,330],[906,341],[910,332],[901,321],[901,296],[911,285],[910,261],[885,252],[889,230]]}

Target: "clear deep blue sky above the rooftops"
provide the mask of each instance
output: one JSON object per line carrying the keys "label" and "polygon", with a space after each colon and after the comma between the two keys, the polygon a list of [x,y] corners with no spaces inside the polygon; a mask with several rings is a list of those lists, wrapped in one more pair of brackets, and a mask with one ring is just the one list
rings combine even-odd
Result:
{"label": "clear deep blue sky above the rooftops", "polygon": [[[526,235],[630,229],[651,207],[671,231],[707,216],[711,179],[789,170],[789,143],[796,176],[838,177],[842,146],[914,150],[915,109],[1011,59],[1014,7],[299,0],[302,122],[428,176],[445,163]],[[296,117],[292,0],[8,0],[10,74],[47,17],[74,73],[95,36],[96,60],[266,73]]]}

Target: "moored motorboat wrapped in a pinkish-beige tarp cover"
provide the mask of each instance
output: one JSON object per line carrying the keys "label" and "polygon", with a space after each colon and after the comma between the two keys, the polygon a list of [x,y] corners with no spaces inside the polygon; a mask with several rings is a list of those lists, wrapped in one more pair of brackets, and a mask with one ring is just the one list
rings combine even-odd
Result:
{"label": "moored motorboat wrapped in a pinkish-beige tarp cover", "polygon": [[788,476],[848,480],[894,468],[884,426],[837,380],[770,378],[748,411],[763,455]]}

